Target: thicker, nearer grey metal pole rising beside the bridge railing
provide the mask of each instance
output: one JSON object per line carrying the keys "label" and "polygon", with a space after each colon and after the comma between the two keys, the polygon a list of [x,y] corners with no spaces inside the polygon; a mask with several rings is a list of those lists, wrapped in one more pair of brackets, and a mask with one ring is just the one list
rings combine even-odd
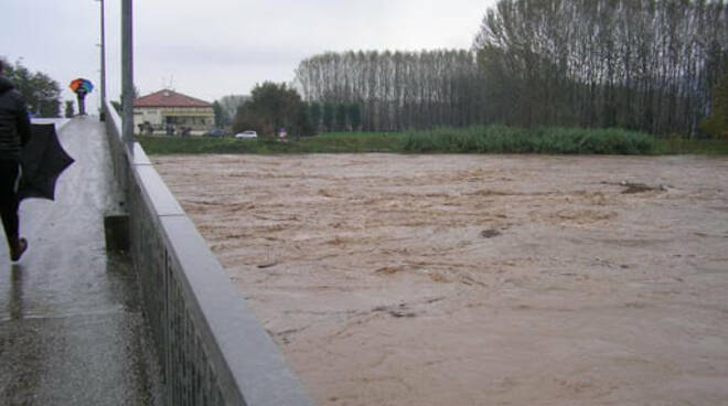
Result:
{"label": "thicker, nearer grey metal pole rising beside the bridge railing", "polygon": [[121,0],[121,106],[122,139],[133,141],[133,39],[131,0]]}

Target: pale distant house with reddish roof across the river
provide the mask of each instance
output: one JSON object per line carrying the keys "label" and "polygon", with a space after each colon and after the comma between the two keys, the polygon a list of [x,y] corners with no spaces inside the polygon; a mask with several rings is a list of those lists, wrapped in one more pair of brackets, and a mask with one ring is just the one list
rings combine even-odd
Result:
{"label": "pale distant house with reddish roof across the river", "polygon": [[136,132],[201,135],[215,124],[212,104],[170,89],[133,101]]}

